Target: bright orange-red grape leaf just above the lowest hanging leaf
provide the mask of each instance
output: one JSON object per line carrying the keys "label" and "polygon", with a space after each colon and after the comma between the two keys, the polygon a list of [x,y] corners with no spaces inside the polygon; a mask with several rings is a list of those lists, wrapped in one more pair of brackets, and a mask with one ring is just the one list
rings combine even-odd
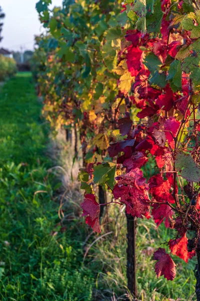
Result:
{"label": "bright orange-red grape leaf just above the lowest hanging leaf", "polygon": [[195,256],[195,251],[188,252],[187,250],[187,242],[188,239],[186,235],[184,234],[182,238],[177,239],[171,239],[169,240],[169,249],[171,250],[171,253],[180,257],[185,262],[188,262],[188,259],[191,259],[193,256]]}

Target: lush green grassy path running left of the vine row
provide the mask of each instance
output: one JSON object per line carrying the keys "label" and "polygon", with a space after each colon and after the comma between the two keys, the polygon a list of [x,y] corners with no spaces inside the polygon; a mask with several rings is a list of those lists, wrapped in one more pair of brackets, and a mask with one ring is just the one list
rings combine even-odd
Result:
{"label": "lush green grassy path running left of the vine row", "polygon": [[0,88],[0,300],[89,301],[80,234],[59,231],[40,110],[29,73]]}

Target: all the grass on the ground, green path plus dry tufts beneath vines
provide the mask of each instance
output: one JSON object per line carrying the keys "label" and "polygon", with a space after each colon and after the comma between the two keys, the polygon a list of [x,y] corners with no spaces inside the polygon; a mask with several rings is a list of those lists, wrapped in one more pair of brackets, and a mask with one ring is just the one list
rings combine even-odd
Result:
{"label": "all the grass on the ground, green path plus dry tufts beneath vines", "polygon": [[[124,211],[110,205],[101,221],[101,234],[112,233],[96,236],[85,228],[78,206],[82,197],[78,186],[71,183],[63,197],[65,217],[60,223],[60,183],[46,155],[49,130],[40,118],[41,106],[30,73],[17,74],[0,88],[0,301],[124,299]],[[70,171],[69,157],[70,148],[64,143],[56,159],[66,171]],[[86,246],[96,238],[100,239],[83,263]],[[186,264],[173,256],[175,280],[156,278],[153,251],[170,238],[170,230],[162,226],[155,229],[152,220],[138,220],[139,300],[196,299],[195,258]]]}

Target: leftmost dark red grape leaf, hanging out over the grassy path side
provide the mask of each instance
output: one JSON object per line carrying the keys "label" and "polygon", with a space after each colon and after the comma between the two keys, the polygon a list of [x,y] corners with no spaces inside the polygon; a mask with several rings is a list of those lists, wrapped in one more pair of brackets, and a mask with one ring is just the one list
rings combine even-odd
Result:
{"label": "leftmost dark red grape leaf, hanging out over the grassy path side", "polygon": [[82,216],[87,216],[85,219],[86,224],[91,226],[94,232],[100,233],[100,206],[96,203],[95,196],[93,194],[86,194],[84,202],[80,204],[80,207],[83,209]]}

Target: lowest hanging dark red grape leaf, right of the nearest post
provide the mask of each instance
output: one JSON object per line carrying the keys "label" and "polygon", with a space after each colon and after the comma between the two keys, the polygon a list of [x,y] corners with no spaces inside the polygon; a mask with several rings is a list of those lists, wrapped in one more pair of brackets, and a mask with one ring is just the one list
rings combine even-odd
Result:
{"label": "lowest hanging dark red grape leaf, right of the nearest post", "polygon": [[155,251],[153,254],[153,259],[157,260],[157,262],[155,263],[155,273],[157,275],[157,278],[162,275],[167,280],[173,280],[175,278],[176,265],[171,257],[166,254],[164,249],[159,248],[157,251]]}

